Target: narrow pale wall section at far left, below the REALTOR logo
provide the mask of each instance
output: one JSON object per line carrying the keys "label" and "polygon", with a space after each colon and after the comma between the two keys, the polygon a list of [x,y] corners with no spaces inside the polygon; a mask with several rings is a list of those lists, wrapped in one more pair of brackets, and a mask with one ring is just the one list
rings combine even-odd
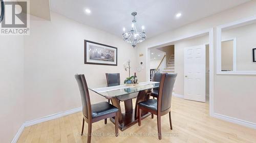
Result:
{"label": "narrow pale wall section at far left, below the REALTOR logo", "polygon": [[11,142],[24,119],[24,37],[0,36],[0,138]]}

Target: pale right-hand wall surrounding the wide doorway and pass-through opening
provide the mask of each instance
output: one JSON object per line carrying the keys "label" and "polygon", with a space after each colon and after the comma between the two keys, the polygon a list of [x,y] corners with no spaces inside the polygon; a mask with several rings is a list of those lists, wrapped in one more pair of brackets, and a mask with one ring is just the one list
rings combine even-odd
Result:
{"label": "pale right-hand wall surrounding the wide doorway and pass-through opening", "polygon": [[[199,21],[190,23],[174,31],[168,31],[157,37],[147,39],[146,41],[140,43],[137,46],[137,52],[144,53],[144,55],[147,55],[145,53],[146,48],[161,45],[163,43],[168,43],[168,41],[171,41],[173,39],[195,34],[208,28],[217,27],[218,25],[233,22],[245,17],[250,17],[255,14],[256,1],[251,1],[238,7],[234,7],[232,9],[223,11],[216,15],[209,16]],[[214,48],[216,49],[216,40],[214,44]],[[137,56],[137,61],[145,62],[146,56]],[[254,90],[256,87],[256,76],[217,75],[216,70],[214,72],[214,112],[219,113],[221,115],[256,123],[256,116],[253,116],[255,115],[256,112],[256,104],[254,103],[256,101]],[[144,68],[140,73],[138,73],[138,77],[140,80],[146,80],[146,75],[146,68]],[[177,88],[177,86],[175,88]]]}

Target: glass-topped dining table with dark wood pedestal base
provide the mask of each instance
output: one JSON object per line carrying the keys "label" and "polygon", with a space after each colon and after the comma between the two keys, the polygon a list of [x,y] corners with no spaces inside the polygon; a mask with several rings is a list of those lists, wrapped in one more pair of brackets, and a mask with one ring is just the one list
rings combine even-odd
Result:
{"label": "glass-topped dining table with dark wood pedestal base", "polygon": [[[138,108],[137,104],[142,101],[146,101],[150,98],[150,91],[153,88],[159,87],[159,82],[148,81],[140,82],[137,85],[127,86],[109,84],[109,85],[96,85],[90,86],[89,89],[106,99],[111,99],[112,104],[119,109],[119,129],[121,131],[131,127],[138,123]],[[136,99],[135,108],[133,108],[133,100]],[[124,112],[121,110],[120,101],[124,102]],[[150,116],[149,112],[142,112],[142,119]],[[110,121],[115,123],[115,118],[111,118]]]}

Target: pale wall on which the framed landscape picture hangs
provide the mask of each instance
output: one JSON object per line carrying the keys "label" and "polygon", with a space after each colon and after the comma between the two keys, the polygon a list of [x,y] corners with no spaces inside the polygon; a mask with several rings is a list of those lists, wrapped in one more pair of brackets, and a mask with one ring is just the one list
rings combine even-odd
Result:
{"label": "pale wall on which the framed landscape picture hangs", "polygon": [[[25,37],[26,120],[80,107],[76,73],[85,74],[88,85],[106,84],[105,73],[120,73],[121,82],[128,73],[123,62],[132,61],[135,49],[121,36],[97,30],[51,13],[51,21],[31,17],[30,36]],[[118,66],[84,64],[84,40],[118,47]],[[93,92],[91,102],[106,101]]]}

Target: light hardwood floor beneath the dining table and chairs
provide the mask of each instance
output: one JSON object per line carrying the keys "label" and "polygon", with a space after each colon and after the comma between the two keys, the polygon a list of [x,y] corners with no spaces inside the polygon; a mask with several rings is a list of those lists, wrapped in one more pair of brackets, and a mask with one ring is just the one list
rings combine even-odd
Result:
{"label": "light hardwood floor beneath the dining table and chairs", "polygon": [[[135,102],[134,102],[135,103]],[[253,115],[252,115],[253,116]],[[113,136],[92,136],[92,142],[256,142],[256,130],[209,117],[208,103],[188,101],[173,97],[172,123],[169,129],[168,114],[162,116],[162,140],[157,136],[157,119],[147,117],[131,128],[120,131],[114,136],[114,124],[104,120],[93,124],[92,132],[96,134],[113,133]],[[80,136],[82,113],[77,112],[62,118],[26,127],[18,139],[22,142],[87,142],[87,136]],[[87,133],[87,124],[84,132]],[[139,136],[148,133],[153,136]],[[170,135],[170,136],[169,136]]]}

